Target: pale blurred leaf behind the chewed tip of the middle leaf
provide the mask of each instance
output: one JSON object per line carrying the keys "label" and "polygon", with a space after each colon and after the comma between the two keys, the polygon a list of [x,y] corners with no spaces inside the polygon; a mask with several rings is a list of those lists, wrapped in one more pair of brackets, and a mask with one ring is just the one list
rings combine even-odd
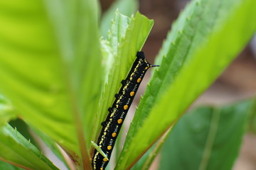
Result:
{"label": "pale blurred leaf behind the chewed tip of the middle leaf", "polygon": [[103,14],[102,21],[101,21],[101,34],[103,37],[107,38],[107,33],[112,26],[112,18],[114,17],[114,12],[120,11],[120,13],[124,14],[125,16],[132,16],[138,9],[138,1],[137,0],[116,0],[110,6],[110,8]]}

